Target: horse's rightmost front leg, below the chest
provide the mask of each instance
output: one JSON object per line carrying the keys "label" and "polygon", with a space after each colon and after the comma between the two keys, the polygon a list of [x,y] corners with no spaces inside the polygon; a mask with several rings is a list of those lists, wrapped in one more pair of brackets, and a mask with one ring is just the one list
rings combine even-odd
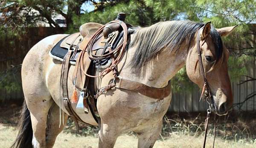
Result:
{"label": "horse's rightmost front leg, below the chest", "polygon": [[162,120],[156,123],[154,126],[137,131],[138,148],[153,148],[154,143],[157,141],[162,129]]}

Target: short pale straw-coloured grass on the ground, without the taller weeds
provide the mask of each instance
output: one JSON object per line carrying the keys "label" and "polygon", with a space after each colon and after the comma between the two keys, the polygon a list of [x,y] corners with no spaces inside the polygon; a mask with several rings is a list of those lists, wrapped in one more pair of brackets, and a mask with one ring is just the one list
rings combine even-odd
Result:
{"label": "short pale straw-coloured grass on the ground, without the taller weeds", "polygon": [[[12,126],[0,124],[1,148],[9,148],[15,139],[17,130]],[[182,133],[172,133],[165,140],[157,140],[154,148],[201,148],[202,136],[188,136]],[[122,135],[116,141],[115,148],[137,148],[137,137]],[[207,138],[207,148],[211,148],[213,137]],[[55,142],[54,148],[97,148],[98,138],[93,136],[76,136],[71,133],[61,133]],[[237,142],[217,138],[215,148],[255,148],[256,140]]]}

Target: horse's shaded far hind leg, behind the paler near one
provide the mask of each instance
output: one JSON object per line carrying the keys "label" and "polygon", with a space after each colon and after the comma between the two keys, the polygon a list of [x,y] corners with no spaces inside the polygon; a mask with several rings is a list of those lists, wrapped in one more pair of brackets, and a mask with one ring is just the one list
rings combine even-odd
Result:
{"label": "horse's shaded far hind leg, behind the paler near one", "polygon": [[59,107],[57,104],[52,104],[52,107],[49,110],[48,113],[48,119],[47,119],[47,130],[46,130],[46,147],[52,148],[56,137],[58,134],[63,130],[67,123],[68,115],[64,113],[64,125],[62,123],[61,119],[61,127],[59,128]]}

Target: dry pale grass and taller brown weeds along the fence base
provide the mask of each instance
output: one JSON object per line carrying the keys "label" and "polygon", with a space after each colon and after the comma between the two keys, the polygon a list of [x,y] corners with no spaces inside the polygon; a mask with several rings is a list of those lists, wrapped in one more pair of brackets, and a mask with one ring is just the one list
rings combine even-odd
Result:
{"label": "dry pale grass and taller brown weeds along the fence base", "polygon": [[[4,110],[0,114],[0,148],[9,148],[17,134],[18,110]],[[161,136],[154,148],[201,148],[204,135],[204,116],[182,115],[164,118]],[[215,148],[256,148],[256,120],[230,119],[221,117]],[[69,122],[57,137],[54,148],[97,148],[97,128],[81,126],[81,135],[74,134],[75,128]],[[213,124],[209,125],[207,148],[212,147]],[[115,148],[137,148],[134,133],[119,136]]]}

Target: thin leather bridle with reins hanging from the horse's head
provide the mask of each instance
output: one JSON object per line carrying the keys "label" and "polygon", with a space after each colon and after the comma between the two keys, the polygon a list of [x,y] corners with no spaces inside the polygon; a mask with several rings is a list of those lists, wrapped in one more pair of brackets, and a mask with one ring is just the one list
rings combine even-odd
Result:
{"label": "thin leather bridle with reins hanging from the horse's head", "polygon": [[[201,55],[201,46],[203,46],[203,44],[205,43],[206,39],[208,38],[208,36],[205,38],[205,40],[203,41],[203,44],[200,45],[200,33],[202,31],[203,27],[201,27],[198,30],[198,34],[197,34],[197,52],[198,52],[198,64],[199,64],[199,69],[200,69],[200,73],[204,79],[204,87],[202,89],[202,93],[201,93],[201,97],[202,98],[203,94],[204,94],[204,98],[203,100],[206,100],[209,104],[209,109],[207,109],[207,118],[205,119],[205,133],[204,133],[204,145],[203,148],[205,148],[205,144],[206,144],[206,138],[207,138],[207,131],[208,131],[208,120],[210,118],[210,113],[212,112],[212,109],[215,109],[216,112],[218,112],[218,109],[216,108],[215,105],[215,101],[212,97],[212,93],[211,93],[211,89],[209,87],[209,83],[207,81],[206,75],[205,75],[205,71],[204,71],[204,66],[203,66],[203,61],[202,61],[202,55]],[[215,133],[216,133],[216,116],[215,116],[215,124],[214,124],[214,141],[213,141],[213,145],[212,148],[214,148],[214,142],[215,142]]]}

